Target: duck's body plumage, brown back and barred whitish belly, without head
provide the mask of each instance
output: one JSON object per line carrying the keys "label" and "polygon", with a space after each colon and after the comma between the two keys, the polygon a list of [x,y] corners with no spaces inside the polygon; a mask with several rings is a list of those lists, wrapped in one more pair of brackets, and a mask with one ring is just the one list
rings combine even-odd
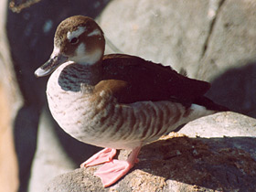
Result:
{"label": "duck's body plumage, brown back and barred whitish belly, without head", "polygon": [[[107,55],[99,65],[63,64],[48,80],[47,94],[67,133],[102,147],[133,149],[197,118],[192,101],[208,90],[205,81],[133,56]],[[179,97],[186,89],[191,94]]]}

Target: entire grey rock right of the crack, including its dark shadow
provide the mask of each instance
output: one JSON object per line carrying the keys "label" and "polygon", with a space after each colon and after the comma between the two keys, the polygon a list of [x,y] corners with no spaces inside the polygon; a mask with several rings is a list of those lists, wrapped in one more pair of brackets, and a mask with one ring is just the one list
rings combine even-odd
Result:
{"label": "entire grey rock right of the crack, including its dark shadow", "polygon": [[195,77],[212,82],[213,101],[256,118],[256,3],[222,2]]}

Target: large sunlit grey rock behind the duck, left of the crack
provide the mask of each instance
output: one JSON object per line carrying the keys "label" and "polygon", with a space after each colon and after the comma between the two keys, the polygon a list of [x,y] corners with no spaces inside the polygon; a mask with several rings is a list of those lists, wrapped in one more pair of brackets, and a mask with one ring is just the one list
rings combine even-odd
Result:
{"label": "large sunlit grey rock behind the duck, left of the crack", "polygon": [[197,70],[204,67],[199,61],[220,2],[112,1],[99,23],[106,37],[123,53],[171,65],[176,70],[185,68],[189,77],[195,77]]}

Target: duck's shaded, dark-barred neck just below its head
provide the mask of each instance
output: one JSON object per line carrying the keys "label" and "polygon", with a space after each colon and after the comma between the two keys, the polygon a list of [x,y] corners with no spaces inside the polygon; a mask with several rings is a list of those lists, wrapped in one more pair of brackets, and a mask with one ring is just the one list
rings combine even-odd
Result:
{"label": "duck's shaded, dark-barred neck just below its head", "polygon": [[59,86],[65,91],[88,91],[101,81],[101,63],[80,65],[72,63],[59,72]]}

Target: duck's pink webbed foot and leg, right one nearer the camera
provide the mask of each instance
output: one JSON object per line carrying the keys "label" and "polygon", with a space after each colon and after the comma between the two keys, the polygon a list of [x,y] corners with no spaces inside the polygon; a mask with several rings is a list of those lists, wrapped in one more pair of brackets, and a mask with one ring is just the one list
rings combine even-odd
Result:
{"label": "duck's pink webbed foot and leg, right one nearer the camera", "polygon": [[94,176],[99,176],[103,187],[109,187],[124,176],[134,165],[138,162],[137,156],[141,150],[141,146],[133,149],[126,161],[113,159],[111,162],[101,166],[101,168],[94,173]]}

